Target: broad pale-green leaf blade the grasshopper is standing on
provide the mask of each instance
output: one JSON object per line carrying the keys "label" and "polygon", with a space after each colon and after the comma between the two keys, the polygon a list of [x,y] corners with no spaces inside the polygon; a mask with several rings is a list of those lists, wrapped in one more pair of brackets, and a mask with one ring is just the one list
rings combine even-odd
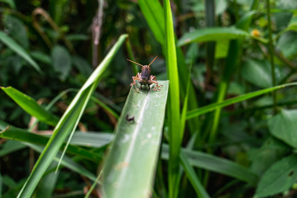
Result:
{"label": "broad pale-green leaf blade the grasshopper is standing on", "polygon": [[[150,197],[161,145],[168,81],[161,91],[132,86],[103,168],[105,197]],[[152,85],[153,86],[153,85]],[[133,120],[128,121],[127,118]],[[127,182],[129,181],[129,182]]]}

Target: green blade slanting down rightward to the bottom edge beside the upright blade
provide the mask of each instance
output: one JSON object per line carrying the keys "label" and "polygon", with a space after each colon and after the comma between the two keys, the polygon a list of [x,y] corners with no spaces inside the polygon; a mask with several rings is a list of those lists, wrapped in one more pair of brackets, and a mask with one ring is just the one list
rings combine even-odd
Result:
{"label": "green blade slanting down rightward to the bottom edge beside the upright blade", "polygon": [[187,159],[184,151],[181,151],[180,155],[181,165],[184,168],[184,171],[187,175],[187,178],[191,182],[196,194],[199,198],[210,198],[209,194],[206,192],[205,188],[201,184],[194,168],[190,165],[189,160]]}

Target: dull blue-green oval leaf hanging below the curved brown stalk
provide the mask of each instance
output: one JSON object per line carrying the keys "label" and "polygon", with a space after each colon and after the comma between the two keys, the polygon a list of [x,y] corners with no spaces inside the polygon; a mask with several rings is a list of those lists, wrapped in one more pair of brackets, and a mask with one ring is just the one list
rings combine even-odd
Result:
{"label": "dull blue-green oval leaf hanging below the curved brown stalk", "polygon": [[68,77],[71,70],[71,57],[69,52],[63,46],[54,46],[51,52],[53,68],[59,72],[59,78],[62,81]]}

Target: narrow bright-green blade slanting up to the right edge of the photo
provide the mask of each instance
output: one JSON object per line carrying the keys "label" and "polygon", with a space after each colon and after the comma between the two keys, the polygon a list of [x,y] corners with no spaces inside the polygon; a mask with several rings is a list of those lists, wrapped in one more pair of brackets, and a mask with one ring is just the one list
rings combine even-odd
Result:
{"label": "narrow bright-green blade slanting up to the right edge of the photo", "polygon": [[212,103],[210,105],[205,105],[203,107],[188,111],[187,119],[193,118],[195,116],[199,116],[199,115],[207,113],[207,112],[211,112],[211,111],[215,110],[217,107],[220,107],[220,108],[226,107],[226,106],[232,105],[232,104],[234,104],[236,102],[240,102],[240,101],[247,100],[247,99],[250,99],[250,98],[253,98],[253,97],[256,97],[256,96],[260,96],[260,95],[262,95],[264,93],[269,93],[271,91],[281,89],[281,88],[284,88],[284,87],[287,87],[287,86],[296,86],[296,85],[297,85],[297,82],[287,83],[287,84],[278,85],[278,86],[275,86],[275,87],[270,87],[270,88],[261,89],[261,90],[258,90],[258,91],[253,91],[253,92],[250,92],[250,93],[246,93],[246,94],[236,96],[236,97],[233,97],[233,98],[221,101],[221,102],[215,102],[215,103]]}

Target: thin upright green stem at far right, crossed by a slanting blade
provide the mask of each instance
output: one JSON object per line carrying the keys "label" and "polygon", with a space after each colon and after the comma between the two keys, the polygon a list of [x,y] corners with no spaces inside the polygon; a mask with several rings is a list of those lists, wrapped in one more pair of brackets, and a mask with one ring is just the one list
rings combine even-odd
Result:
{"label": "thin upright green stem at far right, crossed by a slanting blade", "polygon": [[[270,2],[269,0],[266,0],[267,4],[267,20],[268,20],[268,51],[270,54],[270,63],[271,63],[271,76],[272,76],[272,86],[276,85],[276,80],[275,80],[275,69],[274,69],[274,60],[273,60],[273,55],[274,55],[274,46],[273,46],[273,40],[272,40],[272,29],[271,29],[271,18],[270,18]],[[277,98],[276,98],[276,92],[272,92],[272,98],[273,98],[273,109],[274,113],[277,112]]]}

